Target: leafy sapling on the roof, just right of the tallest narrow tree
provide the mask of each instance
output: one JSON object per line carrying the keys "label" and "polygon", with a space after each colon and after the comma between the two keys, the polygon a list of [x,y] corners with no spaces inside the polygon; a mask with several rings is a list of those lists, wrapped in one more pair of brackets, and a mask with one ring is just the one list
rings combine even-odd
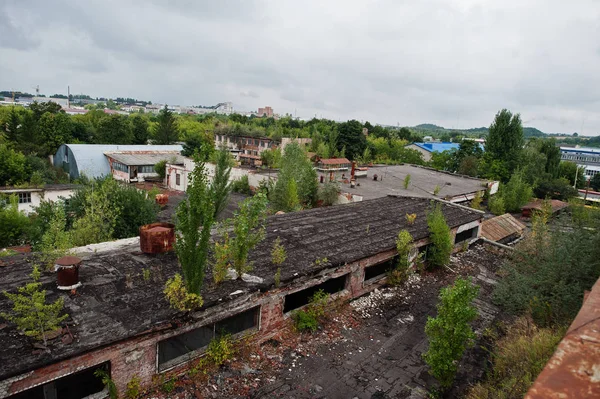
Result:
{"label": "leafy sapling on the roof, just right of the tallest narrow tree", "polygon": [[233,268],[242,278],[242,274],[251,270],[248,263],[250,251],[265,238],[267,216],[267,197],[258,193],[245,199],[233,218],[233,239],[231,240],[231,261]]}

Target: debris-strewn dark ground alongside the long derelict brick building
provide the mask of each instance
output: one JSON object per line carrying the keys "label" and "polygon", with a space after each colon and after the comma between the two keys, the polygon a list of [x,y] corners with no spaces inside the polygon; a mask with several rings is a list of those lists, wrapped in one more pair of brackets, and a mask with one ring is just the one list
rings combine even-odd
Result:
{"label": "debris-strewn dark ground alongside the long derelict brick building", "polygon": [[[184,376],[169,392],[147,398],[425,398],[435,380],[421,358],[427,349],[428,316],[435,315],[440,288],[457,275],[473,276],[481,287],[476,300],[478,340],[498,315],[490,304],[495,271],[504,255],[496,247],[477,245],[452,258],[451,270],[413,275],[402,287],[376,290],[350,304],[338,305],[314,334],[292,328],[262,345],[245,345],[208,381]],[[485,352],[476,344],[461,363],[459,397],[480,378]]]}

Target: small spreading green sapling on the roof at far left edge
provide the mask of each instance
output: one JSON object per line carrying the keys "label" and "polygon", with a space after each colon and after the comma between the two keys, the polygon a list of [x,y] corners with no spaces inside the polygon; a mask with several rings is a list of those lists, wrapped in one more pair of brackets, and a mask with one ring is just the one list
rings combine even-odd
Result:
{"label": "small spreading green sapling on the roof at far left edge", "polygon": [[47,346],[46,334],[56,330],[69,315],[60,315],[64,306],[62,298],[46,303],[46,291],[41,289],[40,272],[36,267],[31,278],[33,282],[20,287],[17,293],[4,292],[13,308],[11,313],[1,313],[0,316],[15,323],[26,336],[43,340],[44,346]]}

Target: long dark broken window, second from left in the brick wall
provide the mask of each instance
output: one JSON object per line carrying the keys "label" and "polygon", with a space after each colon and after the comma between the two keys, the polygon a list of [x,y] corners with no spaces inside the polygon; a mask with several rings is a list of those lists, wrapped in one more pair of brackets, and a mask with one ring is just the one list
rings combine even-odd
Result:
{"label": "long dark broken window, second from left in the brick wall", "polygon": [[204,350],[215,337],[236,335],[258,327],[260,307],[257,306],[226,319],[167,338],[158,343],[158,369],[164,371],[189,361]]}

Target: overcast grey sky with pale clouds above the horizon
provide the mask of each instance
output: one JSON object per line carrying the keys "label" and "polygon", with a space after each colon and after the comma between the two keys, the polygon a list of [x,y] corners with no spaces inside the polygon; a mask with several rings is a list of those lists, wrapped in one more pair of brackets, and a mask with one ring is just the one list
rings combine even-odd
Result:
{"label": "overcast grey sky with pale clouds above the horizon", "polygon": [[0,1],[0,90],[600,134],[600,2]]}

